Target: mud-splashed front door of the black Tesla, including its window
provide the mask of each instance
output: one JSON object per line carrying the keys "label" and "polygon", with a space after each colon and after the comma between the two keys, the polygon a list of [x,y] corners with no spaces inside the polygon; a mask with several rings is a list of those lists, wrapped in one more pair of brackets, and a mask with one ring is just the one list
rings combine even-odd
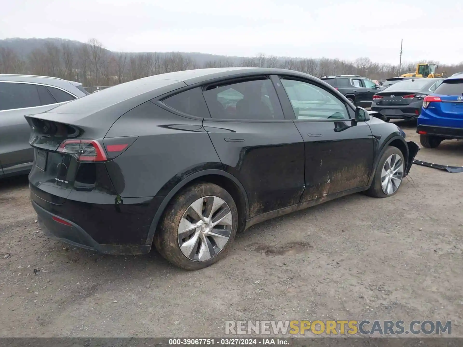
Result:
{"label": "mud-splashed front door of the black Tesla, including its window", "polygon": [[280,99],[289,99],[305,143],[301,202],[367,186],[373,166],[369,125],[354,122],[353,109],[315,81],[281,76],[276,85]]}

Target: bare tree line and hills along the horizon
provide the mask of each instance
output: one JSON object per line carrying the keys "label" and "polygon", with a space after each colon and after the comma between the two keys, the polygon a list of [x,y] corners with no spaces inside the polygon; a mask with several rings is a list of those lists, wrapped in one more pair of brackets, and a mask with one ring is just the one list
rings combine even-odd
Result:
{"label": "bare tree line and hills along the horizon", "polygon": [[[434,62],[435,61],[420,61]],[[78,81],[84,86],[113,86],[138,78],[194,68],[266,67],[286,68],[313,76],[358,74],[372,80],[384,80],[414,71],[417,62],[399,66],[372,62],[369,58],[345,61],[330,58],[282,58],[258,54],[254,57],[230,57],[198,63],[188,53],[126,53],[106,50],[97,39],[78,45],[45,42],[27,56],[11,48],[0,47],[1,74],[36,74]],[[447,75],[463,71],[463,62],[439,64],[438,72]]]}

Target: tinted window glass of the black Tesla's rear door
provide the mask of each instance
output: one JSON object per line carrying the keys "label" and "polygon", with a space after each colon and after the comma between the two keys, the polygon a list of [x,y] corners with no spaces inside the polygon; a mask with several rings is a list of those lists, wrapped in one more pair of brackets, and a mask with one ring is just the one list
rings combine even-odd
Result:
{"label": "tinted window glass of the black Tesla's rear door", "polygon": [[211,117],[215,119],[284,119],[269,79],[212,86],[203,94]]}

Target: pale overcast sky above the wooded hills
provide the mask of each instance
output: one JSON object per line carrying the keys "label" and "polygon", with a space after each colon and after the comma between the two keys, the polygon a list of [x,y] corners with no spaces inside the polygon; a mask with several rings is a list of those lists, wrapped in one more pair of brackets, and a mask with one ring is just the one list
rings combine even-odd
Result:
{"label": "pale overcast sky above the wooded hills", "polygon": [[91,37],[114,51],[463,61],[460,0],[2,1],[0,39]]}

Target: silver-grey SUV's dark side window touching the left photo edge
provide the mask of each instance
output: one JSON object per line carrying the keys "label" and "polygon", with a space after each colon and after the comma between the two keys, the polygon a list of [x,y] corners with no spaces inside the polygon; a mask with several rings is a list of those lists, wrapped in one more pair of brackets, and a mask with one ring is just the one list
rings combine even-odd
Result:
{"label": "silver-grey SUV's dark side window touching the left photo edge", "polygon": [[0,111],[40,105],[35,84],[0,82]]}

